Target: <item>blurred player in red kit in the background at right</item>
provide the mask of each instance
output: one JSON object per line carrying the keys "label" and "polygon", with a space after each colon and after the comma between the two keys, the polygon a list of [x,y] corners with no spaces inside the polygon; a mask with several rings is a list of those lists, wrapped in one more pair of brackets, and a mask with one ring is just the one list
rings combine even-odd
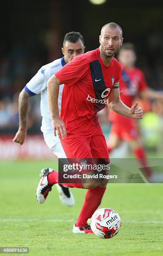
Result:
{"label": "blurred player in red kit in the background at right", "polygon": [[[131,107],[135,97],[138,95],[143,98],[163,100],[163,92],[150,89],[145,81],[143,72],[135,67],[136,54],[133,44],[124,43],[118,52],[117,58],[122,66],[122,78],[119,84],[122,92],[120,98],[125,105]],[[111,122],[111,128],[108,139],[108,152],[110,153],[119,147],[123,141],[128,141],[133,150],[133,155],[139,159],[148,180],[150,182],[159,182],[162,175],[152,173],[152,170],[148,167],[137,121],[120,116],[112,110],[109,111],[109,121]]]}

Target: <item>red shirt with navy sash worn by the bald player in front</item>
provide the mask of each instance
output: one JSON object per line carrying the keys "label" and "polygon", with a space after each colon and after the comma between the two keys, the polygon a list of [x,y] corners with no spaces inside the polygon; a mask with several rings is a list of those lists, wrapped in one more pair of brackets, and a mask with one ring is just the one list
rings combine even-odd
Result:
{"label": "red shirt with navy sash worn by the bald player in front", "polygon": [[105,108],[107,98],[121,78],[120,63],[113,58],[107,67],[99,48],[80,54],[55,73],[65,84],[60,118],[68,133],[87,137],[98,124],[97,112]]}

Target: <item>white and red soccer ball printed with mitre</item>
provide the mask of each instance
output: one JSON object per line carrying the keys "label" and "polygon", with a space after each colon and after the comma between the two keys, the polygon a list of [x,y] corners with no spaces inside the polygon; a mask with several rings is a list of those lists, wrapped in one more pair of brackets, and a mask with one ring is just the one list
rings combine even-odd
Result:
{"label": "white and red soccer ball printed with mitre", "polygon": [[112,238],[120,230],[121,220],[117,212],[109,208],[101,208],[94,212],[90,227],[100,238]]}

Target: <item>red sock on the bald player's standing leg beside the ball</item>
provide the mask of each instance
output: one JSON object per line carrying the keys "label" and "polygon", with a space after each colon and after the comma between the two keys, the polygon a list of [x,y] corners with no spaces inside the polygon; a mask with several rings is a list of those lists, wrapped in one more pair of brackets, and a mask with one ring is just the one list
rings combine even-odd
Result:
{"label": "red sock on the bald player's standing leg beside the ball", "polygon": [[83,207],[75,223],[76,227],[85,226],[87,224],[87,220],[92,217],[93,213],[100,205],[105,189],[106,188],[103,187],[95,187],[87,190]]}

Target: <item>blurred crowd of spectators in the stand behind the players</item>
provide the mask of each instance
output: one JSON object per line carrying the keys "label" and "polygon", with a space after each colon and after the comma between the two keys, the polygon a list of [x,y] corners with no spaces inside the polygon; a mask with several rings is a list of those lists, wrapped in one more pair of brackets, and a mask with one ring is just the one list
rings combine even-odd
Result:
{"label": "blurred crowd of spectators in the stand behind the players", "polygon": [[[36,1],[37,2],[37,1]],[[50,4],[50,1],[48,1]],[[88,10],[87,10],[88,11]],[[14,16],[15,17],[15,16]],[[75,16],[76,17],[76,16]],[[80,14],[81,17],[81,14]],[[113,18],[112,20],[113,21]],[[31,21],[30,21],[31,22]],[[48,21],[46,21],[48,23]],[[115,20],[116,22],[116,20]],[[79,26],[80,24],[80,26]],[[99,25],[101,27],[103,22]],[[121,25],[121,23],[120,23]],[[68,24],[67,24],[68,26]],[[76,29],[78,26],[78,30]],[[84,31],[85,26],[81,26],[81,21],[70,31],[80,31],[85,39],[86,51],[94,49],[91,48],[90,35],[86,38]],[[137,25],[138,26],[138,25]],[[124,28],[124,25],[122,24]],[[81,29],[80,29],[81,28]],[[56,29],[56,28],[54,28]],[[66,28],[65,28],[66,29]],[[91,29],[91,28],[90,28]],[[94,28],[95,29],[95,28]],[[51,31],[51,32],[50,32]],[[57,31],[57,30],[56,30]],[[61,51],[59,50],[62,47],[61,38],[64,37],[65,31],[62,28],[60,34],[63,32],[63,35],[60,36],[60,41],[58,45],[58,56],[61,57]],[[140,31],[141,32],[141,31]],[[40,33],[40,32],[39,32]],[[48,38],[50,38],[50,33],[54,37],[55,33],[53,30],[48,30]],[[97,31],[96,31],[97,33]],[[133,32],[136,33],[136,32]],[[99,34],[99,31],[98,31]],[[46,33],[47,35],[47,33]],[[1,52],[0,58],[0,133],[1,134],[14,134],[18,129],[19,117],[18,117],[18,96],[20,91],[23,89],[25,84],[34,76],[34,74],[40,69],[41,66],[47,64],[53,60],[53,56],[49,56],[50,51],[48,51],[48,44],[43,44],[42,33],[41,38],[40,34],[32,32],[30,35],[27,35],[25,40],[15,40],[12,41],[12,46],[5,47],[3,52]],[[146,81],[149,87],[155,90],[163,90],[163,35],[162,33],[153,32],[148,33],[148,36],[145,38],[145,44],[142,38],[138,38],[138,41],[135,41],[134,36],[128,34],[127,39],[130,38],[130,41],[135,44],[137,50],[137,63],[136,66],[141,68],[145,74]],[[48,39],[47,39],[48,40]],[[55,38],[53,38],[55,42]],[[98,47],[98,38],[93,36],[93,42],[97,41],[96,44]],[[124,39],[126,42],[126,39]],[[5,42],[4,42],[5,45]],[[55,48],[55,44],[53,45]],[[54,58],[54,59],[56,59]],[[50,61],[49,61],[50,60]],[[144,111],[144,118],[139,122],[140,132],[143,134],[143,139],[146,147],[159,147],[163,135],[163,102],[161,101],[150,101],[146,99],[139,99],[139,105],[142,106]],[[110,122],[108,120],[108,108],[105,108],[101,113],[99,113],[100,123],[103,127],[103,131],[106,136],[108,136]],[[30,107],[28,110],[28,133],[41,133],[40,124],[40,95],[35,97],[30,97]]]}

